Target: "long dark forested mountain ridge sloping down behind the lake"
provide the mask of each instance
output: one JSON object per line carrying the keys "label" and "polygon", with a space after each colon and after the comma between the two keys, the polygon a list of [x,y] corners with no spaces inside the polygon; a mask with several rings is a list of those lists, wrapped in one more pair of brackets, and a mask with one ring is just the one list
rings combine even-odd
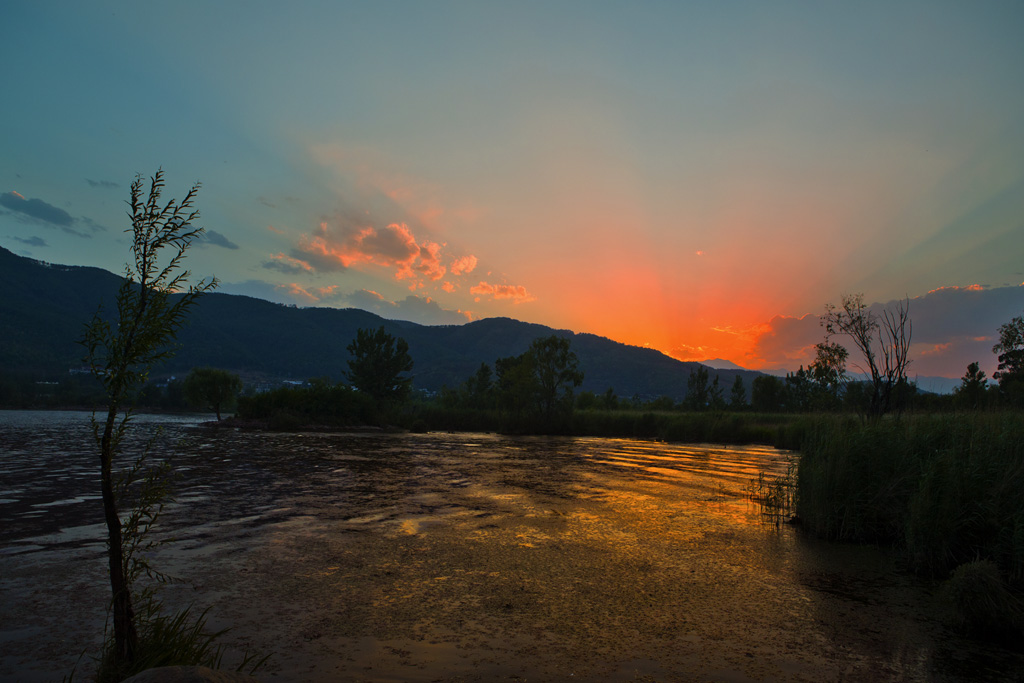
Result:
{"label": "long dark forested mountain ridge sloping down behind the lake", "polygon": [[[99,268],[48,264],[0,247],[0,369],[55,375],[81,366],[83,349],[76,340],[97,305],[113,308],[120,282],[120,276]],[[247,381],[341,379],[347,368],[346,347],[356,331],[381,326],[409,342],[414,386],[430,391],[457,386],[481,362],[493,366],[495,359],[522,353],[534,339],[552,334],[571,339],[585,375],[582,389],[594,392],[611,387],[620,396],[667,395],[679,400],[698,366],[653,349],[511,318],[423,326],[356,308],[297,308],[213,293],[191,310],[178,335],[178,353],[158,373],[180,376],[197,366],[212,366]],[[759,374],[712,370],[726,396],[736,375],[743,378],[749,395]]]}

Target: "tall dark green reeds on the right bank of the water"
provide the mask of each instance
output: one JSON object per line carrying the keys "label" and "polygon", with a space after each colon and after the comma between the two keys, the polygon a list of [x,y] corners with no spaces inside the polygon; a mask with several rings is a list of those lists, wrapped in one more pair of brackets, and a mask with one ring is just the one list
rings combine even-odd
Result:
{"label": "tall dark green reeds on the right bank of the water", "polygon": [[819,418],[801,451],[811,531],[900,546],[934,575],[987,559],[1024,581],[1024,414]]}

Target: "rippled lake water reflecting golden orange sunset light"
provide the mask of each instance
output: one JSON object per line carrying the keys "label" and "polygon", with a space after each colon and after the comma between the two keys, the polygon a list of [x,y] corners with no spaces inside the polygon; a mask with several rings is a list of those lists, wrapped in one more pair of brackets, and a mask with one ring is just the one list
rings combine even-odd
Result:
{"label": "rippled lake water reflecting golden orange sunset light", "polygon": [[[154,558],[266,681],[1015,680],[878,549],[767,524],[792,455],[485,434],[263,434],[142,418],[179,474]],[[0,413],[0,679],[94,652],[87,415]],[[82,659],[80,671],[88,668]],[[1019,679],[1017,679],[1019,680]]]}

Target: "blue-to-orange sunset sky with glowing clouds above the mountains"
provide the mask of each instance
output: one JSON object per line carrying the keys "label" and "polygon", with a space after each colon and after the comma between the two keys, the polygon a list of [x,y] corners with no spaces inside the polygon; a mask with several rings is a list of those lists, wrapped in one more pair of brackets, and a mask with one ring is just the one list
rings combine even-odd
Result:
{"label": "blue-to-orange sunset sky with glowing clouds above the mountains", "polygon": [[[795,370],[908,300],[910,374],[1024,313],[1024,3],[11,3],[0,246],[120,272],[137,174],[196,276]],[[840,340],[843,341],[843,340]]]}

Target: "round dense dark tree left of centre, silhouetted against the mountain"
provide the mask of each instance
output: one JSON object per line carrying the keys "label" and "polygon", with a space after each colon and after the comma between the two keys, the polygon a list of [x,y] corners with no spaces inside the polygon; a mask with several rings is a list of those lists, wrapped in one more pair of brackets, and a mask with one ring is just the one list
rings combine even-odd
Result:
{"label": "round dense dark tree left of centre, silhouetted against the mountain", "polygon": [[347,348],[352,357],[345,377],[352,386],[370,394],[379,405],[401,402],[409,396],[413,380],[401,374],[412,372],[413,358],[404,339],[396,340],[383,326],[376,332],[360,329]]}

